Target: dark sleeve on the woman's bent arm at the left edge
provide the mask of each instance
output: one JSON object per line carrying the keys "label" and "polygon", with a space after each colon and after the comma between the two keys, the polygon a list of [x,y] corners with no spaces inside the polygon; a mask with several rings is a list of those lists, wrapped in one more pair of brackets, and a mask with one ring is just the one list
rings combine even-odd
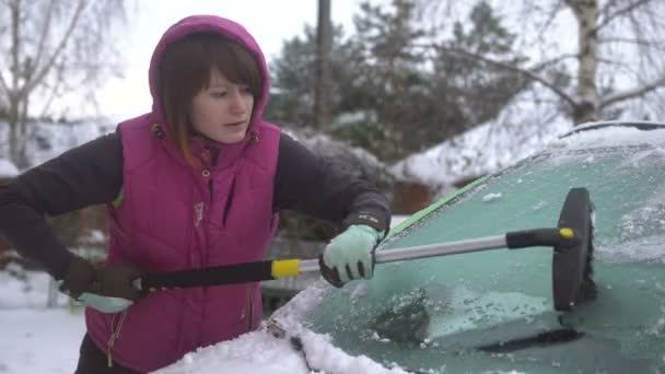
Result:
{"label": "dark sleeve on the woman's bent arm at the left edge", "polygon": [[74,256],[45,215],[113,201],[122,185],[118,133],[106,135],[26,171],[0,190],[0,233],[16,252],[61,279]]}

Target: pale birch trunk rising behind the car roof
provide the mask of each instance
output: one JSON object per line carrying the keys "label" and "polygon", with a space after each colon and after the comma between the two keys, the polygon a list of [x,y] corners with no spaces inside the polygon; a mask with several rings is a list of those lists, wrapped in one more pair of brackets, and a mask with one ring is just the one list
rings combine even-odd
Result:
{"label": "pale birch trunk rising behind the car roof", "polygon": [[575,125],[579,125],[597,119],[598,90],[596,86],[596,74],[598,70],[598,1],[567,0],[565,2],[578,20],[579,103],[573,108],[573,120]]}

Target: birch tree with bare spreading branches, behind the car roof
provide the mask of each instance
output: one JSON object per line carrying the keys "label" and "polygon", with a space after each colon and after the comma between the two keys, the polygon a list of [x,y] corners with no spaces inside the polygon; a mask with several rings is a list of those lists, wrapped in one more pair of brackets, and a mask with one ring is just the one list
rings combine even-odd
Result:
{"label": "birch tree with bare spreading branches, behind the car roof", "polygon": [[[485,2],[485,1],[477,1]],[[454,13],[453,1],[419,0],[434,27]],[[518,46],[529,61],[501,61],[491,52],[438,45],[441,52],[464,56],[520,73],[527,82],[556,93],[575,124],[617,117],[637,98],[650,110],[662,107],[665,3],[658,0],[522,0],[497,2],[515,13]],[[441,20],[441,21],[439,21]],[[575,30],[576,40],[567,38]],[[562,43],[576,46],[564,50]],[[570,84],[569,84],[570,83]],[[640,101],[638,101],[640,102]],[[644,103],[640,103],[644,106]]]}

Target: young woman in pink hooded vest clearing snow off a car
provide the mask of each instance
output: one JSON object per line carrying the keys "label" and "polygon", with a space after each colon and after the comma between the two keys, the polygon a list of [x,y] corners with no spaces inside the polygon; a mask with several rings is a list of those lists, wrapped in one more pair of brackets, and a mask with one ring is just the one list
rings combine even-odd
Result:
{"label": "young woman in pink hooded vest clearing snow off a car", "polygon": [[[341,223],[327,279],[372,277],[386,198],[262,120],[268,72],[254,38],[217,16],[174,24],[150,65],[152,110],[19,176],[0,194],[0,230],[86,304],[77,373],[136,373],[256,329],[258,283],[141,296],[143,272],[264,259],[284,209]],[[106,203],[108,257],[93,267],[44,214]],[[131,305],[114,304],[118,299]]]}

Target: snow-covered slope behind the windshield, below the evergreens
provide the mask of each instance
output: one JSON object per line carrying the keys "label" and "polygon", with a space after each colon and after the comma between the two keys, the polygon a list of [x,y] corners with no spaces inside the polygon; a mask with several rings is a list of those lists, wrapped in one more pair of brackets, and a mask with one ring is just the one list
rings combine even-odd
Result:
{"label": "snow-covered slope behind the windshield, below the evergreens", "polygon": [[570,130],[572,122],[548,101],[522,93],[491,121],[411,155],[390,167],[398,178],[450,186],[510,166]]}

